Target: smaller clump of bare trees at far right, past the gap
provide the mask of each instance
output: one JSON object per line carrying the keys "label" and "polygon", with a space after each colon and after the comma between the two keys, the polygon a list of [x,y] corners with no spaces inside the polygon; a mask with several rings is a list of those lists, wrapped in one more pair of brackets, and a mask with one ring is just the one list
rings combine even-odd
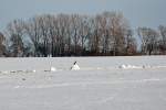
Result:
{"label": "smaller clump of bare trees at far right, past the gap", "polygon": [[166,26],[158,30],[151,28],[138,28],[138,36],[142,41],[143,55],[166,55]]}

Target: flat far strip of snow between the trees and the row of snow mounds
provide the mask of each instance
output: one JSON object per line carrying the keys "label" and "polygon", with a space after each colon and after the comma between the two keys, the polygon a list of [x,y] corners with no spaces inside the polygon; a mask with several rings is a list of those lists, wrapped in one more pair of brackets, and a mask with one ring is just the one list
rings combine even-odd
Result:
{"label": "flat far strip of snow between the trees and the row of snow mounds", "polygon": [[121,65],[166,66],[166,56],[116,56],[116,57],[40,57],[40,58],[0,58],[0,70],[37,69],[44,70],[51,66],[70,69],[77,61],[82,69],[115,68]]}

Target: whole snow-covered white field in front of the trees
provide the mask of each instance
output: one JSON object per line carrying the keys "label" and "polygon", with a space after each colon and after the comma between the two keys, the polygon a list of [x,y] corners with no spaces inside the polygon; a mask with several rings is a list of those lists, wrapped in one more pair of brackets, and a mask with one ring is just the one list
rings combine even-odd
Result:
{"label": "whole snow-covered white field in front of the trees", "polygon": [[166,110],[166,56],[0,58],[0,110]]}

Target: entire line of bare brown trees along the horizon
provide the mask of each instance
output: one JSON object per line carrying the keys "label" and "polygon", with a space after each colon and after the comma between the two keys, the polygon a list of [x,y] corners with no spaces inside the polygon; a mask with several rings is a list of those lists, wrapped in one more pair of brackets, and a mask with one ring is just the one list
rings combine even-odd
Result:
{"label": "entire line of bare brown trees along the horizon", "polygon": [[[138,48],[138,36],[141,50]],[[121,12],[96,15],[42,14],[13,20],[0,33],[0,56],[165,55],[166,26],[137,28]]]}

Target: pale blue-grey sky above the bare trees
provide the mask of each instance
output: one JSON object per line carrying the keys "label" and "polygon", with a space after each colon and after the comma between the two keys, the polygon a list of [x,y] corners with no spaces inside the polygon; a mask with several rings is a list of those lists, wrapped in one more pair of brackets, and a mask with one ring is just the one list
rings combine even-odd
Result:
{"label": "pale blue-grey sky above the bare trees", "polygon": [[14,19],[42,13],[96,14],[121,11],[133,29],[166,25],[166,0],[0,0],[0,31]]}

